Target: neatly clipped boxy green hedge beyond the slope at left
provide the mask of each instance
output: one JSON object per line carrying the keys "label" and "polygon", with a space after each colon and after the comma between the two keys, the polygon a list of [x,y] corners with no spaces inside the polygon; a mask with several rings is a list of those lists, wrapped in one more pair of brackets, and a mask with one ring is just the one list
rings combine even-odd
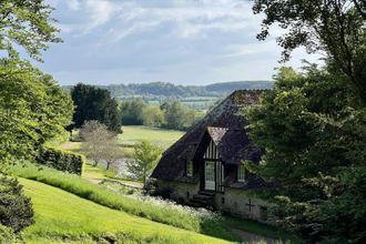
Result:
{"label": "neatly clipped boxy green hedge beyond the slope at left", "polygon": [[85,157],[74,152],[43,146],[40,150],[38,163],[59,171],[81,175]]}

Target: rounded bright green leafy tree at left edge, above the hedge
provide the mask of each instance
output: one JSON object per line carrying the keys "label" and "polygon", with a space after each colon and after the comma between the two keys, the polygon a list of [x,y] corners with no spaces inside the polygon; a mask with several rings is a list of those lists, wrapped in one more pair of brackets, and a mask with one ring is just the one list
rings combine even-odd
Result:
{"label": "rounded bright green leafy tree at left edge, above the hedge", "polygon": [[0,162],[32,157],[70,124],[69,94],[52,77],[19,60],[0,60]]}

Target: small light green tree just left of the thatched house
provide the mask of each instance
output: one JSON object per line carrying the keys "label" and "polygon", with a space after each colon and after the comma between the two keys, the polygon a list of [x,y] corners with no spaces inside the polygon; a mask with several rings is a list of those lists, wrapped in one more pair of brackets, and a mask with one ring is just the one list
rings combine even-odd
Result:
{"label": "small light green tree just left of the thatched house", "polygon": [[134,145],[134,160],[128,162],[128,171],[146,183],[148,176],[157,164],[162,149],[149,141],[141,141]]}

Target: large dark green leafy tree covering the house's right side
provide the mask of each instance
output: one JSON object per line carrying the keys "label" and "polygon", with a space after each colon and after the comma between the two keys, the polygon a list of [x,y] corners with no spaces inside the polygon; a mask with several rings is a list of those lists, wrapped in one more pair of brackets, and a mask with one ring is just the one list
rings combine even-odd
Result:
{"label": "large dark green leafy tree covering the house's right side", "polygon": [[272,92],[248,111],[251,139],[266,150],[260,176],[279,223],[312,242],[362,242],[366,235],[366,111],[347,75],[283,68]]}

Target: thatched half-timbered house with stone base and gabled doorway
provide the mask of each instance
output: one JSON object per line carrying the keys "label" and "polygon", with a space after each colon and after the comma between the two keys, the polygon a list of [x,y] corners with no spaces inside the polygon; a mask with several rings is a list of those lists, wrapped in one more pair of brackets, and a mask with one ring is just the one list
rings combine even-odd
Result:
{"label": "thatched half-timbered house with stone base and gabled doorway", "polygon": [[247,194],[270,185],[243,164],[258,163],[264,153],[250,141],[241,115],[264,91],[233,92],[167,149],[151,175],[156,191],[179,203],[271,222],[268,204]]}

